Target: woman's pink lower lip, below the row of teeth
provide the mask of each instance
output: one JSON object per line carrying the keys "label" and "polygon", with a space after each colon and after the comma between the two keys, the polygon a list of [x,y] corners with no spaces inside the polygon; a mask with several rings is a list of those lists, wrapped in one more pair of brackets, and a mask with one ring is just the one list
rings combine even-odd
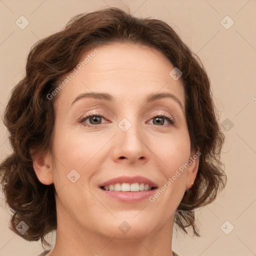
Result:
{"label": "woman's pink lower lip, below the row of teeth", "polygon": [[154,188],[152,190],[145,190],[145,191],[123,192],[123,191],[104,190],[99,187],[99,190],[101,190],[105,195],[122,202],[138,202],[138,201],[144,200],[149,196],[153,195],[156,189],[157,188]]}

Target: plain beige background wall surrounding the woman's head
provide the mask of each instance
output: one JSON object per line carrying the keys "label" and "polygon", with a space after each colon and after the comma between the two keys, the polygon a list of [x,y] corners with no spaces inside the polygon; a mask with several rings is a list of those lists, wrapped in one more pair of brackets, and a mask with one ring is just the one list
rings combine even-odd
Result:
{"label": "plain beige background wall surrounding the woman's head", "polygon": [[[105,5],[125,8],[123,3],[134,15],[166,21],[198,54],[211,79],[220,122],[224,122],[221,157],[226,188],[214,203],[196,210],[202,236],[189,237],[179,231],[173,237],[173,250],[181,256],[256,255],[255,0],[0,0],[0,114],[11,88],[24,74],[33,43],[62,29],[75,14]],[[21,15],[29,21],[24,29],[15,24]],[[229,29],[221,24],[226,15],[234,21]],[[230,24],[226,18],[223,22]],[[9,152],[6,139],[0,122],[0,159]],[[0,204],[0,256],[39,254],[39,242],[25,241],[8,229],[9,213],[2,195]],[[229,234],[222,231],[230,231],[231,225],[234,229]]]}

